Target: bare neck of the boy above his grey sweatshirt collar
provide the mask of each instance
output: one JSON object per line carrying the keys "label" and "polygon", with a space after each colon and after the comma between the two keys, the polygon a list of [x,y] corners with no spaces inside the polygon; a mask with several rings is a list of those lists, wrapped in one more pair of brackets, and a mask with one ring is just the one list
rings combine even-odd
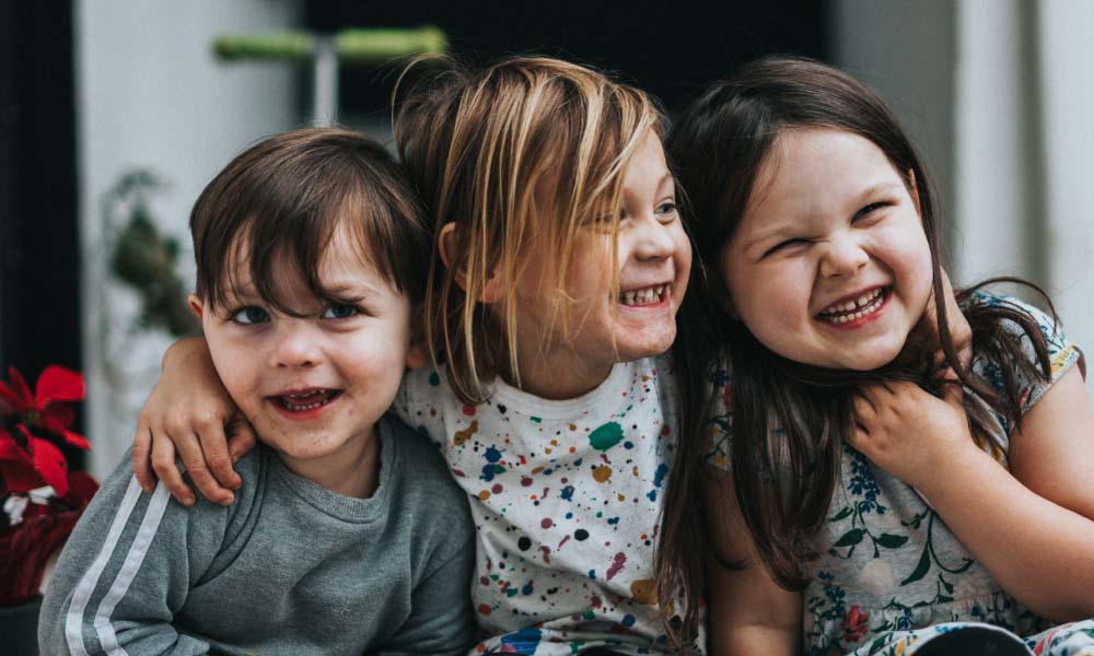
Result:
{"label": "bare neck of the boy above his grey sweatshirt collar", "polygon": [[369,499],[380,484],[380,434],[369,429],[362,440],[353,440],[339,450],[318,458],[292,458],[278,452],[289,471],[336,494]]}

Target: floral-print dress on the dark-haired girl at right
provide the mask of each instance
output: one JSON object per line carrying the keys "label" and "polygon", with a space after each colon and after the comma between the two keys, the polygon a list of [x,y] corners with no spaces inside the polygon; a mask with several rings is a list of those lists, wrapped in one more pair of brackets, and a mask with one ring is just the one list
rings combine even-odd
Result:
{"label": "floral-print dress on the dark-haired girl at right", "polygon": [[[1079,349],[1040,311],[980,293],[968,303],[1005,303],[1035,317],[1048,342],[1052,382],[1079,361]],[[1016,325],[1013,329],[1020,330]],[[1023,342],[1035,361],[1025,337]],[[1003,384],[1004,365],[981,358],[973,361],[974,372],[997,389]],[[1025,412],[1050,383],[1015,373],[1022,380]],[[712,382],[724,389],[710,422],[708,461],[724,469],[731,425],[726,370],[715,367]],[[1012,426],[969,389],[965,394],[966,402],[981,405],[994,418],[981,447],[1005,467]],[[823,555],[803,591],[807,654],[908,656],[940,633],[986,624],[1022,636],[1033,654],[1094,656],[1094,621],[1052,626],[1008,595],[913,488],[847,445],[840,467],[828,523],[817,538]]]}

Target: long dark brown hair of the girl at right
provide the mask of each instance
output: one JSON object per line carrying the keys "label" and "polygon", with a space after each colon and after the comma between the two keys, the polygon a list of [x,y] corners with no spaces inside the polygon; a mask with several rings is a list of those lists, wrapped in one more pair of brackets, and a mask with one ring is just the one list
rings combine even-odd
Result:
{"label": "long dark brown hair of the girl at right", "polygon": [[[1013,372],[1002,367],[1006,377],[1000,395],[957,361],[946,323],[939,212],[927,171],[889,108],[850,75],[807,59],[760,59],[729,81],[710,86],[674,124],[670,152],[699,260],[718,266],[772,145],[787,130],[798,128],[834,128],[870,140],[901,175],[909,192],[918,192],[931,249],[942,350],[964,385],[1012,425],[1020,425],[1021,389]],[[697,362],[728,358],[732,363],[730,462],[736,499],[775,581],[787,589],[802,589],[810,581],[811,561],[819,555],[815,537],[839,480],[842,443],[853,429],[853,391],[869,383],[904,379],[938,394],[939,383],[932,379],[930,358],[910,363],[898,358],[872,372],[824,370],[781,358],[753,337],[744,324],[711,311],[729,297],[720,271],[710,270],[705,282],[709,301],[703,304],[699,297],[703,293],[700,284],[690,289],[688,300],[699,305],[696,312],[718,332],[713,339],[697,339],[680,344],[680,349],[696,351],[691,359]],[[978,356],[1015,363],[1031,378],[1048,379],[1048,350],[1035,319],[1005,304],[974,304],[965,314]],[[1004,328],[1008,321],[1017,324],[1028,337],[1039,366],[1023,354],[1020,337]],[[706,331],[708,336],[711,330]],[[702,379],[709,372],[694,367],[691,388],[709,386]],[[981,419],[970,412],[970,421],[979,433]],[[674,531],[683,537],[674,539],[666,530],[659,565],[663,593],[682,595],[694,606],[703,593],[703,548],[714,549],[707,553],[725,566],[740,564],[720,558],[717,547],[705,539],[699,485],[703,476],[702,433],[709,426],[691,421],[686,430],[673,479],[680,489],[666,500],[665,507],[666,517],[677,517]]]}

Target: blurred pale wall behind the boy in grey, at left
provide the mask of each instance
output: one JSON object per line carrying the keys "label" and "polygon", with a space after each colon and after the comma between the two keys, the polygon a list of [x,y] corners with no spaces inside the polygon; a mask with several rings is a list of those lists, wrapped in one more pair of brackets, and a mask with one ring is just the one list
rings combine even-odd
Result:
{"label": "blurred pale wall behind the boy in grey, at left", "polygon": [[123,173],[148,168],[168,183],[153,206],[159,226],[184,245],[205,184],[254,140],[298,125],[296,71],[277,63],[218,62],[221,33],[294,26],[295,0],[77,0],[78,151],[83,255],[84,405],[90,468],[103,477],[131,444],[136,413],[171,339],[130,332],[137,297],[106,278],[102,203]]}

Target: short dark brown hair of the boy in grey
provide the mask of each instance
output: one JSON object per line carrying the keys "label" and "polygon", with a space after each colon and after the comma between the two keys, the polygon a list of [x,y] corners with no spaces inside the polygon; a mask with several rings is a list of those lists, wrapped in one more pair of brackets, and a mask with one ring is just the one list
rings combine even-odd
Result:
{"label": "short dark brown hair of the boy in grey", "polygon": [[[338,128],[266,139],[232,160],[190,212],[197,295],[224,307],[246,261],[255,290],[290,315],[277,281],[300,276],[317,298],[323,253],[349,230],[359,257],[418,306],[424,295],[429,232],[401,169],[382,145]],[[241,259],[241,257],[246,258]],[[295,270],[293,270],[295,269]]]}

